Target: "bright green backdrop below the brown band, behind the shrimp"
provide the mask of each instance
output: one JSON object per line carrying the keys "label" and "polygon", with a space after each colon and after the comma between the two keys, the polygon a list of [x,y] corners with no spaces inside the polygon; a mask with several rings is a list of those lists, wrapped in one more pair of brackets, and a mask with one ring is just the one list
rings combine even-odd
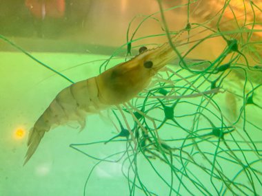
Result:
{"label": "bright green backdrop below the brown band, behind the shrimp", "polygon": [[[64,72],[68,78],[78,81],[90,78],[99,73],[101,61],[74,67],[81,63],[101,60],[106,56],[85,55],[85,54],[59,54],[59,53],[32,53],[40,61],[52,66],[54,69],[68,69]],[[39,118],[41,113],[48,107],[50,101],[61,89],[70,85],[68,81],[60,76],[52,74],[48,69],[38,65],[32,59],[19,52],[1,52],[1,195],[82,195],[85,180],[92,167],[97,163],[90,157],[86,157],[69,147],[72,143],[87,143],[101,140],[108,140],[117,134],[116,129],[108,118],[105,111],[102,116],[88,116],[85,129],[78,133],[77,124],[57,127],[46,133],[36,153],[31,160],[23,165],[23,157],[26,153],[26,140],[28,131]],[[121,62],[121,59],[114,60],[112,64]],[[224,99],[223,95],[215,99]],[[222,109],[226,112],[227,106]],[[183,107],[180,108],[183,112]],[[187,108],[190,110],[190,108]],[[247,109],[249,118],[257,122],[257,126],[262,126],[260,121],[261,111],[256,107]],[[158,113],[154,113],[158,116]],[[112,117],[112,114],[110,115]],[[186,124],[187,122],[185,122]],[[202,124],[204,127],[204,124]],[[26,135],[21,140],[14,139],[14,131],[22,127],[26,130]],[[251,130],[250,130],[251,129]],[[252,138],[259,141],[261,133],[252,133],[252,127],[248,127]],[[163,133],[167,131],[166,133]],[[241,130],[239,130],[241,134]],[[161,138],[168,138],[172,135],[170,127],[165,127],[161,132]],[[241,138],[237,133],[234,137]],[[243,148],[246,144],[240,144]],[[258,148],[261,144],[258,144]],[[179,146],[177,146],[179,147]],[[214,149],[210,144],[203,143],[201,147]],[[98,157],[105,157],[125,149],[125,142],[110,142],[108,144],[94,144],[81,147],[85,152]],[[251,155],[251,154],[250,154]],[[250,160],[254,157],[248,157]],[[115,157],[114,157],[115,158]],[[114,160],[114,159],[112,159]],[[202,157],[199,156],[199,160]],[[148,188],[152,188],[160,195],[168,195],[169,189],[152,172],[152,168],[142,157],[139,157],[139,172],[141,179]],[[159,172],[170,180],[170,170],[160,161],[154,161]],[[227,163],[224,163],[227,165]],[[129,195],[128,182],[121,173],[121,162],[102,163],[94,169],[85,191],[87,195]],[[126,171],[128,166],[124,166]],[[194,171],[197,175],[199,168]],[[237,168],[236,168],[236,171]],[[232,166],[225,173],[232,175],[236,172]],[[208,176],[203,175],[199,170],[199,178],[209,182]],[[245,181],[245,178],[243,178]],[[157,184],[157,186],[156,186]],[[211,185],[210,185],[211,186]],[[257,191],[260,188],[257,186]],[[137,193],[138,195],[141,193]]]}

